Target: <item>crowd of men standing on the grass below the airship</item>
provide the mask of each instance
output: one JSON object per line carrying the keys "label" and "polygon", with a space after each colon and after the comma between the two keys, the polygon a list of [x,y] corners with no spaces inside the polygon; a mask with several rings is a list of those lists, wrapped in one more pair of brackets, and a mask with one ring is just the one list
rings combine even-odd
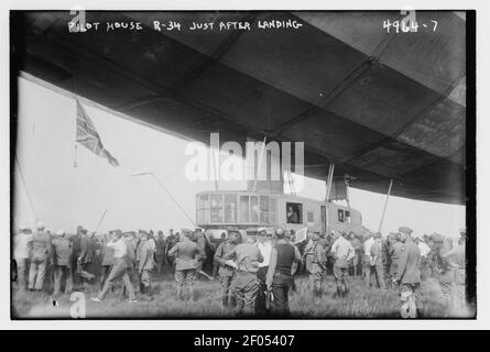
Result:
{"label": "crowd of men standing on the grass below the airship", "polygon": [[440,285],[447,307],[466,307],[465,242],[466,230],[451,245],[440,234],[418,237],[407,227],[385,238],[379,232],[326,235],[308,230],[307,239],[300,242],[293,230],[282,228],[259,229],[254,235],[228,229],[219,239],[200,229],[170,230],[167,237],[152,230],[113,230],[95,237],[81,226],[74,235],[63,230],[52,234],[39,222],[34,232],[20,226],[14,235],[13,278],[20,290],[45,289],[55,297],[98,282],[99,294],[91,297],[97,302],[121,282],[129,302],[135,302],[135,286],[139,295],[152,296],[152,277],[168,266],[179,299],[193,297],[202,276],[219,279],[226,308],[287,317],[288,295],[296,290],[298,275],[308,276],[316,297],[325,294],[326,275],[333,275],[338,299],[349,295],[350,276],[361,275],[368,287],[399,290],[402,312],[415,317],[416,293],[429,277]]}

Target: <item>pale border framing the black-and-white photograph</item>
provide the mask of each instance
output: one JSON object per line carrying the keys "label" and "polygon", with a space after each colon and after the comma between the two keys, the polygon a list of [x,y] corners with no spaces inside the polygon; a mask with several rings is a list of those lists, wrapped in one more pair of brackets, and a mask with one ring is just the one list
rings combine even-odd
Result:
{"label": "pale border framing the black-and-white photograph", "polygon": [[[488,329],[490,328],[490,245],[489,234],[486,231],[490,228],[490,213],[488,197],[489,186],[486,183],[489,176],[489,163],[486,151],[488,151],[489,131],[488,113],[489,109],[489,87],[490,78],[488,65],[490,65],[489,41],[490,33],[489,16],[486,10],[488,1],[148,1],[148,0],[81,0],[73,2],[73,6],[83,6],[90,9],[107,10],[396,10],[404,6],[415,9],[476,9],[477,10],[477,161],[478,161],[478,196],[477,196],[477,224],[478,224],[478,318],[477,320],[102,320],[102,321],[13,321],[10,320],[10,267],[7,265],[10,258],[9,223],[10,223],[10,174],[9,174],[9,10],[55,10],[67,9],[70,3],[67,1],[35,1],[25,0],[22,2],[8,0],[1,2],[0,35],[2,41],[1,53],[1,82],[3,117],[0,130],[0,328],[1,329]],[[482,64],[484,63],[484,64]]]}

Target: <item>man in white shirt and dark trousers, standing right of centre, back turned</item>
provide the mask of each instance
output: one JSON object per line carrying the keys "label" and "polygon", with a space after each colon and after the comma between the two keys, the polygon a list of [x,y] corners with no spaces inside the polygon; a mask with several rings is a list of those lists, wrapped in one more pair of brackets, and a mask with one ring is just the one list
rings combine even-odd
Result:
{"label": "man in white shirt and dark trousers, standing right of centre, back turned", "polygon": [[352,244],[346,240],[346,232],[336,234],[336,240],[331,245],[330,252],[334,254],[334,276],[337,284],[337,296],[346,297],[349,293],[347,275],[349,272],[349,262],[356,254]]}

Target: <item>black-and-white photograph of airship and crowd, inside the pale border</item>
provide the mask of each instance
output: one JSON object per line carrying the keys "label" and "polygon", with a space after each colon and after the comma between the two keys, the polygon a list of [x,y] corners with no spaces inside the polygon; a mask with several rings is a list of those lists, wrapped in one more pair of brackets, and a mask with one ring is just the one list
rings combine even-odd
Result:
{"label": "black-and-white photograph of airship and crowd, inside the pale border", "polygon": [[477,318],[475,10],[9,15],[10,319]]}

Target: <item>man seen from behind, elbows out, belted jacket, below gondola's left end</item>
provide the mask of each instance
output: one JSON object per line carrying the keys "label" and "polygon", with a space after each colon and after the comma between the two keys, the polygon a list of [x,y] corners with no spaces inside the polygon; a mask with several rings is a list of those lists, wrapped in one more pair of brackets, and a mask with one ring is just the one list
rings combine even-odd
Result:
{"label": "man seen from behind, elbows out, belted jacket, below gondola's left end", "polygon": [[192,239],[194,233],[182,231],[181,241],[170,251],[170,256],[175,256],[175,282],[177,283],[177,298],[184,298],[184,288],[188,288],[188,298],[194,296],[194,283],[196,282],[197,261],[204,255],[196,242]]}

